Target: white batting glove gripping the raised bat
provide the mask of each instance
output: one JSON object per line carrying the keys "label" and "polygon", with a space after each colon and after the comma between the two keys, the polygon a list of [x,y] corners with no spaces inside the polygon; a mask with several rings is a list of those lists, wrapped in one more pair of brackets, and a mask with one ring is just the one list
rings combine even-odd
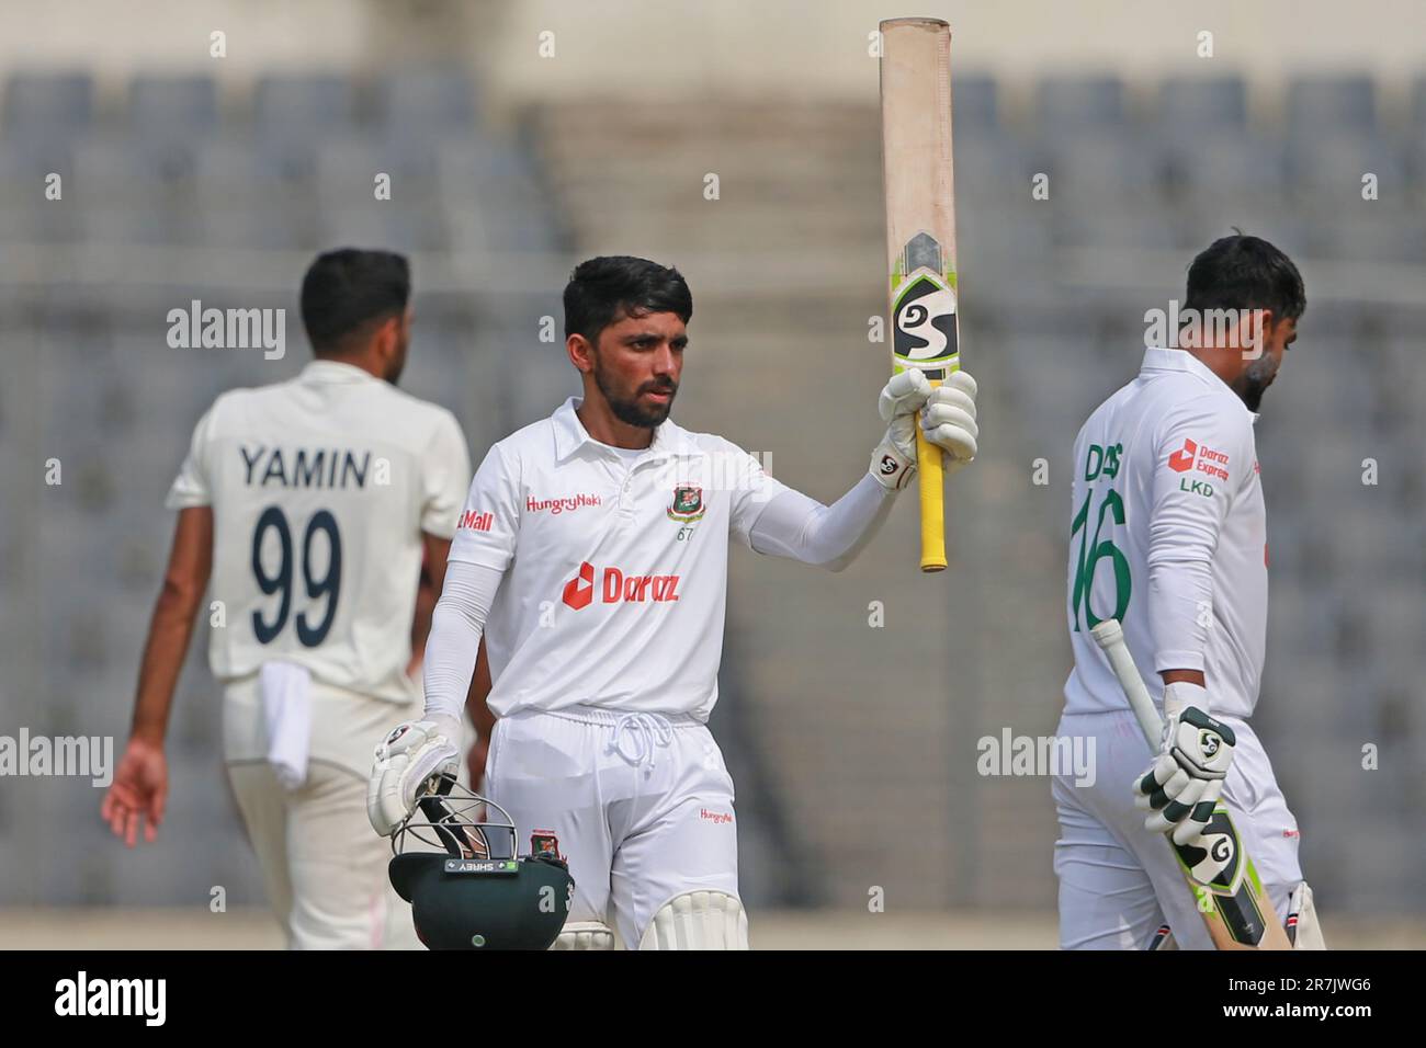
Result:
{"label": "white batting glove gripping the raised bat", "polygon": [[975,458],[975,379],[953,372],[940,386],[915,368],[893,375],[877,399],[877,412],[887,423],[886,436],[871,452],[871,476],[883,488],[900,490],[915,473],[915,416],[921,416],[925,439],[945,452],[943,466],[954,473]]}

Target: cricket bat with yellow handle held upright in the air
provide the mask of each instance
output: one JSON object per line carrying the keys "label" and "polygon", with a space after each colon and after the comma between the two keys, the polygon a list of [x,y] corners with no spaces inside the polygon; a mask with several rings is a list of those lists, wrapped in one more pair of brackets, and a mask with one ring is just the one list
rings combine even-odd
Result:
{"label": "cricket bat with yellow handle held upright in the air", "polygon": [[[951,177],[951,27],[881,23],[881,171],[887,201],[891,374],[920,368],[940,385],[960,366],[955,181]],[[921,570],[945,567],[941,449],[915,426]]]}

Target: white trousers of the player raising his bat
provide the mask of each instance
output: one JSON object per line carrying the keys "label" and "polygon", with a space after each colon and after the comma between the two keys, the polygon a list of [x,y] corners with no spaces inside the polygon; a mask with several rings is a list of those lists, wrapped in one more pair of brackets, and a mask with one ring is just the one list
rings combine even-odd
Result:
{"label": "white trousers of the player raising his bat", "polygon": [[687,716],[580,706],[496,721],[485,794],[529,836],[550,831],[575,878],[569,921],[602,921],[630,950],[697,888],[737,897],[733,780]]}

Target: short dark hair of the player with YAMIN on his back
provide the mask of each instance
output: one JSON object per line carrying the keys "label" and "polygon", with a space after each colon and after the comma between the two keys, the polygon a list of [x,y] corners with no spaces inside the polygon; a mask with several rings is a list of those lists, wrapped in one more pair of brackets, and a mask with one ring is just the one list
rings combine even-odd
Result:
{"label": "short dark hair of the player with YAMIN on his back", "polygon": [[318,354],[342,354],[364,324],[406,311],[411,267],[392,251],[338,248],[317,257],[302,278],[302,327]]}

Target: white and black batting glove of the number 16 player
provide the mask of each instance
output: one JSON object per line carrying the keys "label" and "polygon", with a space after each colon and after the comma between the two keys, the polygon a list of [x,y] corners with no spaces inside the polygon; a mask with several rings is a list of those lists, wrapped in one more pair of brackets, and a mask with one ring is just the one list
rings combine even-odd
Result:
{"label": "white and black batting glove of the number 16 player", "polygon": [[1172,833],[1175,844],[1202,834],[1233,763],[1233,730],[1204,711],[1206,700],[1198,684],[1164,687],[1164,749],[1134,783],[1135,807],[1152,813],[1144,828]]}

